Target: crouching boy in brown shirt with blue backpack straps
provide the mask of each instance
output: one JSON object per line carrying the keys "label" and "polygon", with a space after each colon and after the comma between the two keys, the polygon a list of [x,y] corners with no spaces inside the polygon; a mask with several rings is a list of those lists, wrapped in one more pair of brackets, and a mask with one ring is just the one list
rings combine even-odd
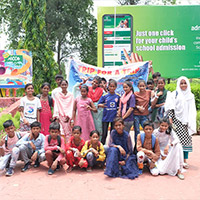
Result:
{"label": "crouching boy in brown shirt with blue backpack straps", "polygon": [[159,170],[155,166],[155,162],[160,157],[160,147],[158,139],[152,135],[154,126],[153,123],[146,121],[143,124],[144,133],[137,136],[137,160],[140,174],[142,174],[143,163],[147,161],[152,175],[157,176]]}

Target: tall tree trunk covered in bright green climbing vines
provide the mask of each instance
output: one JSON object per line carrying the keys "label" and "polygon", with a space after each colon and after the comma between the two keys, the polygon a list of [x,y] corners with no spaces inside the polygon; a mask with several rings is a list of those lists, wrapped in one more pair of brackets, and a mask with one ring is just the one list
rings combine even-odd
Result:
{"label": "tall tree trunk covered in bright green climbing vines", "polygon": [[28,49],[33,53],[33,82],[39,91],[45,81],[55,85],[54,76],[57,65],[54,54],[47,42],[45,27],[46,0],[22,0],[22,28],[24,37],[18,47]]}

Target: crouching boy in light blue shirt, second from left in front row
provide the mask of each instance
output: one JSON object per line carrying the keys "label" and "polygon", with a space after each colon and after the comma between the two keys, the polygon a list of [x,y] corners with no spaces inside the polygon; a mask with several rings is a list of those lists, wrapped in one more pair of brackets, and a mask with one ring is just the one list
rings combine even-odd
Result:
{"label": "crouching boy in light blue shirt, second from left in front row", "polygon": [[31,163],[34,162],[34,167],[39,167],[40,162],[45,160],[44,154],[44,139],[45,136],[40,133],[41,123],[33,122],[31,125],[31,133],[24,135],[16,144],[20,150],[20,158],[25,165],[21,169],[22,172],[28,170]]}

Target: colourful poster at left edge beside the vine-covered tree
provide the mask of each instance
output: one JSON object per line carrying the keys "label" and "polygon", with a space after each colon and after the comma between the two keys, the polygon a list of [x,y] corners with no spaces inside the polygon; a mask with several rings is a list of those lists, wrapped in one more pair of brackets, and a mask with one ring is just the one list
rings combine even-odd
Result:
{"label": "colourful poster at left edge beside the vine-covered tree", "polygon": [[0,50],[0,88],[24,88],[32,82],[32,53]]}

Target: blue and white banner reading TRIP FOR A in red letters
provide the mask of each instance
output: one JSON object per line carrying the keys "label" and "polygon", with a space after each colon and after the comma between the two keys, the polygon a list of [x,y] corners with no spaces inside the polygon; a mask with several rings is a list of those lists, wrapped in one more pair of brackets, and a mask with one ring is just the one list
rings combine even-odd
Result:
{"label": "blue and white banner reading TRIP FOR A in red letters", "polygon": [[95,67],[80,61],[71,60],[69,71],[69,87],[70,92],[74,92],[77,83],[81,83],[83,78],[89,78],[87,85],[91,85],[92,79],[95,76],[104,77],[107,81],[115,79],[117,81],[116,92],[123,94],[123,83],[129,80],[133,84],[134,91],[138,91],[138,81],[147,81],[149,74],[148,61],[131,63],[114,68]]}

